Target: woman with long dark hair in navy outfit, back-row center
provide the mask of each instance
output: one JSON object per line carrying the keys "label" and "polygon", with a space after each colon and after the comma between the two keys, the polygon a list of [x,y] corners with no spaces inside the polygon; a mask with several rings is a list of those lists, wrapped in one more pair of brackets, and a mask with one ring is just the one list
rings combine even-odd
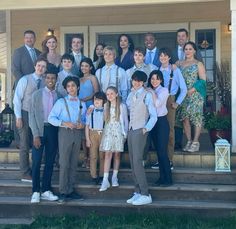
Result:
{"label": "woman with long dark hair in navy outfit, back-row center", "polygon": [[115,64],[125,70],[134,66],[134,43],[128,34],[121,34],[117,41],[118,57]]}

